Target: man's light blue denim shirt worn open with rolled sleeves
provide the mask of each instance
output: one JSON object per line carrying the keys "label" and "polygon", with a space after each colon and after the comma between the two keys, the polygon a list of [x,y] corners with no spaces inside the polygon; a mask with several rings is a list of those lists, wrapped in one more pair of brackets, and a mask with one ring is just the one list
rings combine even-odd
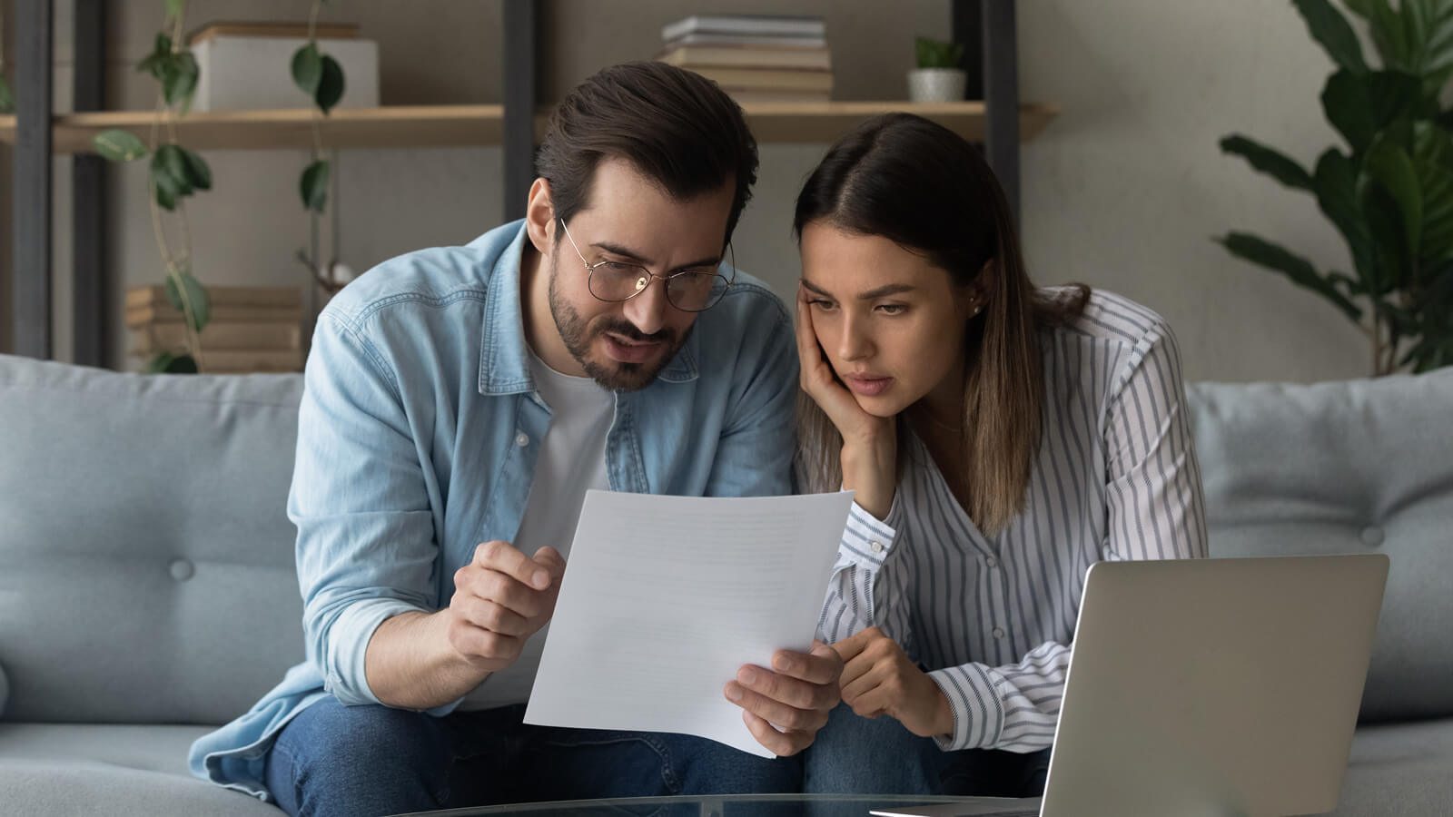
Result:
{"label": "man's light blue denim shirt worn open with rolled sleeves", "polygon": [[[514,539],[551,420],[525,345],[525,240],[514,222],[465,247],[400,256],[320,315],[288,499],[307,660],[246,715],[192,744],[193,775],[266,798],[266,753],[289,720],[325,695],[378,702],[363,672],[373,629],[401,612],[448,606],[453,574],[475,547]],[[796,391],[790,318],[738,272],[657,381],[616,395],[610,488],[792,493]]]}

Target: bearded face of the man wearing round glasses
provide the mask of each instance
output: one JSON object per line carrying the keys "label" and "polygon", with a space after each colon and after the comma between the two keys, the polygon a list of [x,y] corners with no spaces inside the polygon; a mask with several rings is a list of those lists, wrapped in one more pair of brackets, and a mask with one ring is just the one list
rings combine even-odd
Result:
{"label": "bearded face of the man wearing round glasses", "polygon": [[674,201],[626,160],[596,169],[590,201],[570,221],[565,237],[554,222],[549,254],[549,310],[571,356],[602,387],[645,388],[686,343],[696,313],[667,301],[665,282],[651,279],[629,301],[591,295],[588,263],[639,265],[657,276],[716,266],[731,215],[734,185],[692,201]]}

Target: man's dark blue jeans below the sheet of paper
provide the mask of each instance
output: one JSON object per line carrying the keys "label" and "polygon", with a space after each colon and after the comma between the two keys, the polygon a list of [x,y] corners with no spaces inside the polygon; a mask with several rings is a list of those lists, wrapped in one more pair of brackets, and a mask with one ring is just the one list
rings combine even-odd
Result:
{"label": "man's dark blue jeans below the sheet of paper", "polygon": [[525,707],[443,718],[325,698],[267,756],[267,788],[294,817],[400,814],[497,802],[793,792],[801,765],[683,734],[522,723]]}

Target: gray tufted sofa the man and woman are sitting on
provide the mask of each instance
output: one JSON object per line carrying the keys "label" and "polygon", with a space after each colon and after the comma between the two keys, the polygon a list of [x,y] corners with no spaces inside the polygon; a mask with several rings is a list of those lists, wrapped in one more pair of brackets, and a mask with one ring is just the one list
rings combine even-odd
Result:
{"label": "gray tufted sofa the man and woman are sitting on", "polygon": [[[302,659],[301,388],[0,356],[0,813],[279,814],[185,756]],[[1337,814],[1453,814],[1453,371],[1190,406],[1213,555],[1392,557]]]}

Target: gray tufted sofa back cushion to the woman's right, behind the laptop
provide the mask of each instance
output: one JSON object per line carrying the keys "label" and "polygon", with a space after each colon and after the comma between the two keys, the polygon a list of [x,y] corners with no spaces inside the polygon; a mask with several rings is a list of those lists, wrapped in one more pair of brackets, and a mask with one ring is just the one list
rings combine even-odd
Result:
{"label": "gray tufted sofa back cushion to the woman's right, behind the laptop", "polygon": [[1453,369],[1187,393],[1210,555],[1388,554],[1361,717],[1453,715]]}

